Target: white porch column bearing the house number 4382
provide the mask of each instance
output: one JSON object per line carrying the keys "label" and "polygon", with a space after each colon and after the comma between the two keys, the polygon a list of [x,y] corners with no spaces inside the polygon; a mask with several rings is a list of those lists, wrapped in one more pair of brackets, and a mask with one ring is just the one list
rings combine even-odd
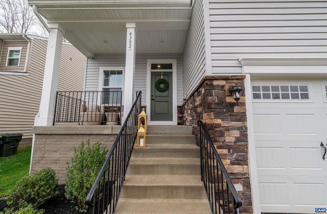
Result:
{"label": "white porch column bearing the house number 4382", "polygon": [[134,98],[134,73],[135,73],[135,23],[126,23],[126,62],[125,62],[125,82],[124,82],[124,116],[125,122]]}

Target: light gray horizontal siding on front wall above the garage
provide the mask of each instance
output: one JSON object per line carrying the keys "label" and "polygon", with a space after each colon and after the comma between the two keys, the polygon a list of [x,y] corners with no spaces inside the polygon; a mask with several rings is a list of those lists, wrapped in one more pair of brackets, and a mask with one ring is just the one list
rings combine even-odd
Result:
{"label": "light gray horizontal siding on front wall above the garage", "polygon": [[241,57],[326,57],[326,1],[209,0],[213,74]]}

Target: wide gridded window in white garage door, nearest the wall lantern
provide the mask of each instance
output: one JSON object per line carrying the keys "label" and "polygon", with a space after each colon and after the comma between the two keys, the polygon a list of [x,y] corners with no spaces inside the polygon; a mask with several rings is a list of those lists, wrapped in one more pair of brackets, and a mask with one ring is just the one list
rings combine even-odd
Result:
{"label": "wide gridded window in white garage door, nearest the wall lantern", "polygon": [[310,100],[309,84],[252,85],[253,100]]}

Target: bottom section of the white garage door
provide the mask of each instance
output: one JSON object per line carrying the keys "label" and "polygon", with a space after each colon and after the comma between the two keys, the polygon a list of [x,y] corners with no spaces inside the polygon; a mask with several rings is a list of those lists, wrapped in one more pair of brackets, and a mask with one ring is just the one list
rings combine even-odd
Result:
{"label": "bottom section of the white garage door", "polygon": [[[262,212],[315,213],[325,208],[327,186],[321,176],[258,176]],[[322,196],[322,197],[318,197]]]}

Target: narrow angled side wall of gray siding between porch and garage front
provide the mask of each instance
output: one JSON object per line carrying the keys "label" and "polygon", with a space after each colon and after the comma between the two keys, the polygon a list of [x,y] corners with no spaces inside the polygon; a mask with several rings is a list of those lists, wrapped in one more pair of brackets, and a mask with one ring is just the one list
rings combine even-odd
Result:
{"label": "narrow angled side wall of gray siding between porch and garage front", "polygon": [[203,1],[194,1],[190,29],[182,54],[183,98],[187,98],[206,72]]}

